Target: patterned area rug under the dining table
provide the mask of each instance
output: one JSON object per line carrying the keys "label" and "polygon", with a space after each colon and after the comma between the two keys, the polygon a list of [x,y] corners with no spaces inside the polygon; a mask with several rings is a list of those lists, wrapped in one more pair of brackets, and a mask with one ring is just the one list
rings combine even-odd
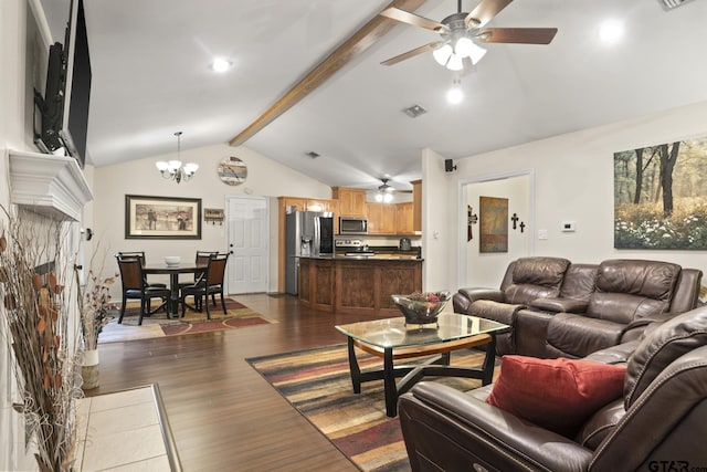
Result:
{"label": "patterned area rug under the dining table", "polygon": [[122,324],[118,324],[119,308],[112,311],[110,317],[113,319],[103,328],[98,336],[98,344],[238,329],[276,323],[232,298],[226,298],[225,307],[228,313],[223,314],[221,303],[217,296],[217,306],[212,305],[210,307],[211,319],[207,319],[205,311],[199,313],[187,310],[183,318],[168,318],[165,312],[159,312],[151,316],[145,316],[143,325],[138,326],[139,303],[128,303]]}

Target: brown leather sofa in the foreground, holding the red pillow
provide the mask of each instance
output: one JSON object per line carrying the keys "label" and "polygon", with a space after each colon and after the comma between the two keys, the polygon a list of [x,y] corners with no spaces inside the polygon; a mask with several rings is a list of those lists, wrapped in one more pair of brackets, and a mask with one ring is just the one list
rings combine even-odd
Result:
{"label": "brown leather sofa in the foreground, holding the red pillow", "polygon": [[623,397],[595,411],[571,438],[488,405],[493,385],[462,392],[418,384],[399,399],[412,470],[663,471],[707,465],[707,307],[653,323],[640,338],[588,359],[626,363]]}

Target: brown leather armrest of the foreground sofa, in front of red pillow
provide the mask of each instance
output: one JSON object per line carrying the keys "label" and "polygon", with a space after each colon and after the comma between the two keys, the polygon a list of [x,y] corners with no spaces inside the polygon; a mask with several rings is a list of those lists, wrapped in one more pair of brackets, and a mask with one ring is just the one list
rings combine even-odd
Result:
{"label": "brown leather armrest of the foreground sofa, in front of red pillow", "polygon": [[591,450],[568,438],[441,384],[423,381],[402,395],[399,415],[413,470],[433,463],[439,470],[479,464],[503,471],[584,471],[592,459]]}

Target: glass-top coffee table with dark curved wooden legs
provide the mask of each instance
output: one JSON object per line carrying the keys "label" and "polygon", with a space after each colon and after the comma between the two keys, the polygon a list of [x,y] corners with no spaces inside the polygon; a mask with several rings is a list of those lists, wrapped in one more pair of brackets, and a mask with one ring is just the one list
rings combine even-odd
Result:
{"label": "glass-top coffee table with dark curved wooden legs", "polygon": [[[496,334],[507,332],[508,325],[476,316],[442,313],[437,323],[407,325],[404,317],[374,319],[336,326],[348,337],[349,369],[354,392],[361,392],[361,382],[383,379],[386,412],[398,413],[398,396],[408,391],[425,376],[447,376],[481,379],[488,385],[494,375]],[[486,356],[479,367],[450,365],[453,350],[486,346]],[[361,371],[355,348],[383,358],[382,369]],[[393,360],[431,357],[418,365],[393,365]],[[395,385],[395,378],[402,379]]]}

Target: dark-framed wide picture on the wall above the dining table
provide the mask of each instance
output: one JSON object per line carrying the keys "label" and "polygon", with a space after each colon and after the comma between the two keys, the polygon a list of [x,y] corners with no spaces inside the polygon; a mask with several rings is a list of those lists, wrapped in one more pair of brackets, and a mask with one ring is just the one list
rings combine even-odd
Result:
{"label": "dark-framed wide picture on the wall above the dining table", "polygon": [[126,195],[125,239],[201,239],[201,199]]}

